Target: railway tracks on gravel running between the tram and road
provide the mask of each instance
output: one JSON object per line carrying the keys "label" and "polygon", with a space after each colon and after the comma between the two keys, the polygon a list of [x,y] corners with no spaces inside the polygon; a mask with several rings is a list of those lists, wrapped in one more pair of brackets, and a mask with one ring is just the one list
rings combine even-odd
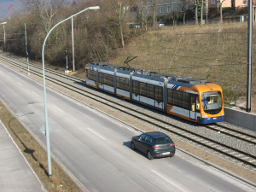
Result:
{"label": "railway tracks on gravel running between the tram and road", "polygon": [[[26,61],[13,58],[12,56],[3,56],[1,55],[1,61],[4,61],[6,64],[12,65],[19,68],[20,70],[26,71]],[[42,67],[37,64],[30,63],[30,73],[38,77],[42,77]],[[226,157],[227,160],[236,162],[240,166],[244,166],[247,169],[256,172],[256,155],[253,153],[246,152],[240,148],[230,146],[223,142],[219,142],[216,139],[206,137],[195,131],[189,130],[186,125],[188,122],[184,122],[183,125],[177,125],[177,123],[166,121],[161,119],[160,116],[166,117],[165,113],[153,112],[152,109],[147,109],[147,111],[141,110],[140,106],[136,103],[126,102],[115,96],[110,96],[107,93],[102,93],[98,90],[93,90],[84,85],[83,79],[79,79],[65,73],[60,73],[52,69],[45,69],[46,80],[50,81],[53,84],[58,84],[61,87],[66,88],[67,90],[72,90],[73,92],[79,94],[80,96],[85,96],[90,98],[92,101],[97,102],[98,104],[103,105],[106,108],[111,108],[112,110],[122,113],[126,116],[129,116],[131,119],[143,122],[146,125],[153,126],[160,131],[164,131],[167,134],[172,133],[179,139],[187,143],[193,143],[202,148],[208,148],[214,153],[218,153],[220,157]],[[99,94],[100,93],[100,94]],[[129,105],[127,104],[129,103]],[[143,112],[144,111],[144,112]],[[159,114],[159,115],[156,115]],[[173,118],[172,118],[173,119]],[[174,118],[175,119],[175,118]],[[214,125],[205,125],[199,126],[195,125],[197,129],[207,129],[214,131],[218,134],[225,135],[227,139],[230,137],[235,137],[237,141],[242,141],[244,143],[255,145],[256,137],[255,134],[247,134],[243,131],[237,131],[236,129],[231,129],[228,126],[222,124]]]}

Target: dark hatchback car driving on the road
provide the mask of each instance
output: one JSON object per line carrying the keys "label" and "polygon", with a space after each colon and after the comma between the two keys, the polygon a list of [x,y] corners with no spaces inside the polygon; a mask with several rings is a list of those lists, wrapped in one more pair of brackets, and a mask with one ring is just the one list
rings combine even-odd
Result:
{"label": "dark hatchback car driving on the road", "polygon": [[131,138],[131,148],[147,154],[149,160],[158,157],[172,157],[175,154],[175,144],[165,133],[146,132]]}

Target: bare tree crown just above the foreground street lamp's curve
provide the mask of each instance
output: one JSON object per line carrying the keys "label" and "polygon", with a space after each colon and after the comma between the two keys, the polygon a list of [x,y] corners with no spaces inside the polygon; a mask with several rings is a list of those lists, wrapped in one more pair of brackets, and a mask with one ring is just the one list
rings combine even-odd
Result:
{"label": "bare tree crown just above the foreground street lamp's curve", "polygon": [[53,18],[65,0],[20,0],[29,12],[42,20],[45,32],[48,33],[53,25]]}

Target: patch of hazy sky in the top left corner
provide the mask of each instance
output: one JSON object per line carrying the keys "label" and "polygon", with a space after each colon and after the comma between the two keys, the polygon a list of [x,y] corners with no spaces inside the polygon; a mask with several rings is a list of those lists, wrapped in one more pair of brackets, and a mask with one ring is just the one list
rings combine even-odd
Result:
{"label": "patch of hazy sky in the top left corner", "polygon": [[12,13],[14,11],[18,11],[21,9],[21,3],[19,0],[0,0],[0,20],[3,20],[4,18],[9,19],[9,5],[14,4],[10,8],[10,15],[12,16]]}

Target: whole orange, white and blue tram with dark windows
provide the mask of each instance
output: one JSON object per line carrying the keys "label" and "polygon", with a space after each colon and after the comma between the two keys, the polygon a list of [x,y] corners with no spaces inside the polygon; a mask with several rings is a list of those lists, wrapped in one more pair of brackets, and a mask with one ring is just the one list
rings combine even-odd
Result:
{"label": "whole orange, white and blue tram with dark windows", "polygon": [[85,84],[199,124],[224,121],[222,89],[205,79],[93,62],[85,65]]}

